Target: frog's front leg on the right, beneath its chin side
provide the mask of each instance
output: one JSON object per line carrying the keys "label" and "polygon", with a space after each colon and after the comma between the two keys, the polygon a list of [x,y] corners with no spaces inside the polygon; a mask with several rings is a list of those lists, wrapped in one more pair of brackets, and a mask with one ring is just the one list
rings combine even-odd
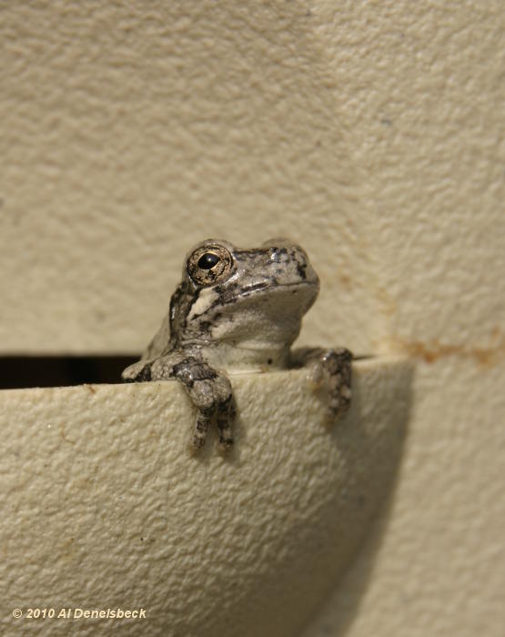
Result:
{"label": "frog's front leg on the right, beneath its chin side", "polygon": [[329,414],[337,420],[350,407],[352,353],[348,349],[306,348],[293,352],[295,365],[309,365],[311,379],[320,386],[324,383],[329,395]]}

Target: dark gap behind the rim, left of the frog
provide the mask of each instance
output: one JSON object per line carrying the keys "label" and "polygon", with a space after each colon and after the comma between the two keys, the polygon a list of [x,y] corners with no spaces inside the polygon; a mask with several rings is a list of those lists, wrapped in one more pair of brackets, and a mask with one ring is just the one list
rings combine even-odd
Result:
{"label": "dark gap behind the rim, left of the frog", "polygon": [[138,356],[3,356],[0,389],[119,383]]}

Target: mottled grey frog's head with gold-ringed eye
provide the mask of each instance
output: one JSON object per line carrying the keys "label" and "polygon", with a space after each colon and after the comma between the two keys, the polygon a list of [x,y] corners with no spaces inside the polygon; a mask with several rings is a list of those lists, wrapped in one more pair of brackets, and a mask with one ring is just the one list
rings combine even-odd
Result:
{"label": "mottled grey frog's head with gold-ringed eye", "polygon": [[253,249],[207,239],[188,253],[172,297],[172,338],[241,349],[287,348],[318,288],[306,252],[287,239]]}

